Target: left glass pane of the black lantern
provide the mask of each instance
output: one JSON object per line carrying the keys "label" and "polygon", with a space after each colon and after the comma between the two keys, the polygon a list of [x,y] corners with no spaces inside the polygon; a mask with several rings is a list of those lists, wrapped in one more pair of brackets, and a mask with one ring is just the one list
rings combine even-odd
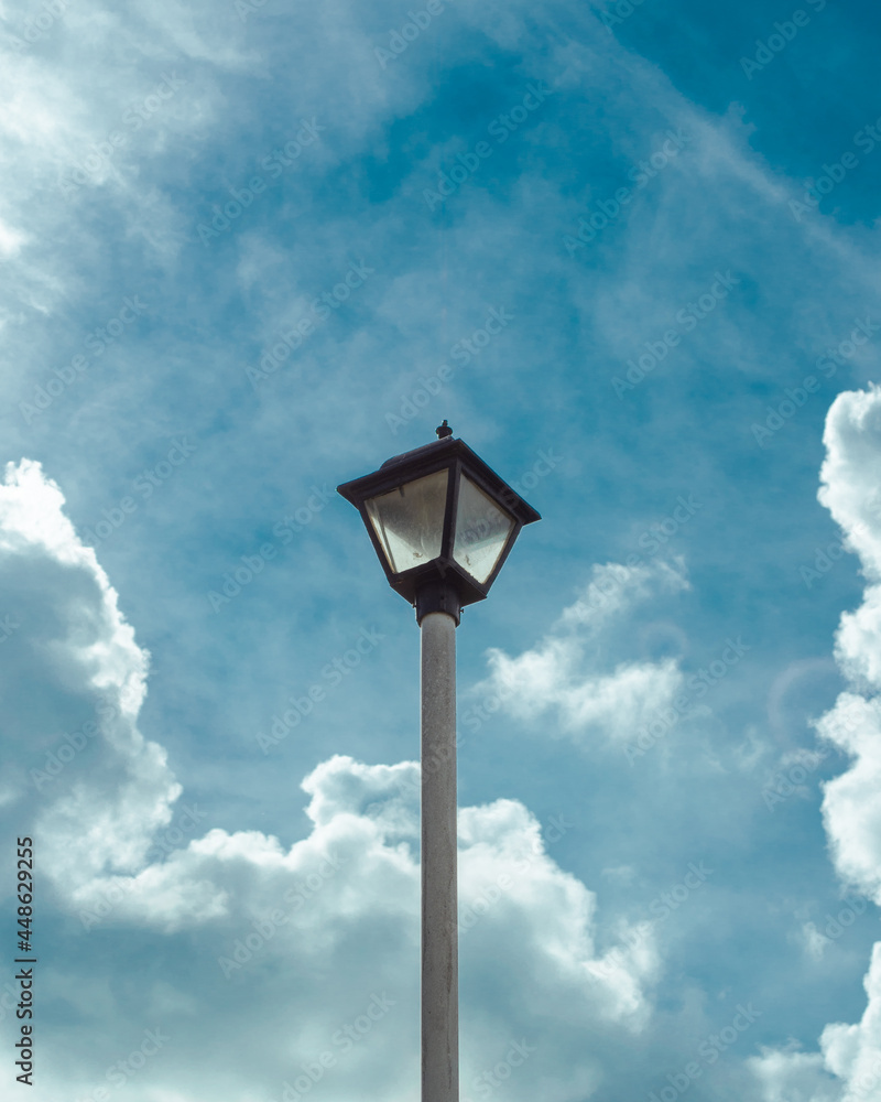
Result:
{"label": "left glass pane of the black lantern", "polygon": [[446,468],[436,471],[365,503],[373,531],[395,574],[440,554],[448,478]]}

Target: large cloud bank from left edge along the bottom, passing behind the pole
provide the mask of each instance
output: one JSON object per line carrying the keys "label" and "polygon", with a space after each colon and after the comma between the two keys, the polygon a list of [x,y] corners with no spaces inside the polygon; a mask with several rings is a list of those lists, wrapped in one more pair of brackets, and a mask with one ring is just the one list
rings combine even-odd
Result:
{"label": "large cloud bank from left edge along the bottom, passing behind the pole", "polygon": [[[329,1100],[356,1089],[411,1096],[418,1049],[401,1038],[418,1004],[418,765],[317,764],[301,786],[309,830],[290,845],[205,830],[163,747],[139,730],[149,655],[61,489],[26,460],[8,465],[0,487],[3,609],[15,649],[7,642],[0,694],[17,719],[0,815],[9,834],[34,838],[75,947],[42,975],[67,1006],[67,1048],[64,1067],[45,1058],[34,1096],[94,1098],[115,1056],[127,1069],[127,1054],[156,1044],[130,1088],[144,1102],[250,1098],[258,1087],[279,1098],[316,1068]],[[592,1093],[605,1047],[651,1016],[651,923],[598,951],[595,894],[548,856],[516,800],[460,809],[459,850],[464,1082],[518,1044],[542,1057],[523,1062],[512,1099]],[[172,969],[160,963],[167,954]],[[121,966],[126,983],[96,996],[98,977]],[[113,1023],[98,1044],[96,997]],[[0,993],[0,1026],[12,1005]],[[585,1036],[598,1038],[587,1054]]]}

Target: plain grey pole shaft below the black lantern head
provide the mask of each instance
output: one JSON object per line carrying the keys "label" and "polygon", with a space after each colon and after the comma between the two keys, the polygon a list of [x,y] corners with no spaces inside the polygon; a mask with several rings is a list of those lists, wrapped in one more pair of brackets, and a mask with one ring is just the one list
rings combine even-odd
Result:
{"label": "plain grey pole shaft below the black lantern head", "polygon": [[459,1100],[456,622],[422,619],[422,1102]]}

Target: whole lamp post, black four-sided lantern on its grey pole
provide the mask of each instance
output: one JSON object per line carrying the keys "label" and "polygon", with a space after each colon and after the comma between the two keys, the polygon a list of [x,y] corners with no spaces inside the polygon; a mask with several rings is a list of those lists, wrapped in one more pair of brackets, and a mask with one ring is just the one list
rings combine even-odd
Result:
{"label": "whole lamp post, black four-sided lantern on its grey pole", "polygon": [[338,486],[361,514],[389,584],[421,634],[422,1102],[459,1099],[456,890],[456,628],[524,525],[541,517],[453,436]]}

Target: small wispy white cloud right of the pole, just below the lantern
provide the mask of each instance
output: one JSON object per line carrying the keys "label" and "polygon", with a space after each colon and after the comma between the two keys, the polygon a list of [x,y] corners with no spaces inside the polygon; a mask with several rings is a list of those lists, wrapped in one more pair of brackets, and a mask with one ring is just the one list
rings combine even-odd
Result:
{"label": "small wispy white cloud right of the pole, just below the lantern", "polygon": [[536,647],[516,657],[489,650],[490,674],[475,693],[498,698],[522,720],[553,712],[559,732],[575,742],[597,732],[616,742],[632,739],[670,709],[683,673],[673,658],[602,669],[599,644],[626,623],[637,603],[686,587],[682,568],[664,562],[594,566],[585,592]]}

